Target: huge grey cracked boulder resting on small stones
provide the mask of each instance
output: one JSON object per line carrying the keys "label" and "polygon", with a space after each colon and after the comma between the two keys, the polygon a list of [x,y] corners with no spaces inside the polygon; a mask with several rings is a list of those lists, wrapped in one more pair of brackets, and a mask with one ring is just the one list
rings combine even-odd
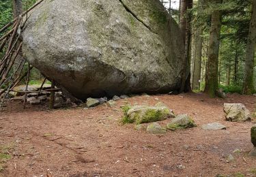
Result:
{"label": "huge grey cracked boulder resting on small stones", "polygon": [[183,45],[158,0],[45,0],[23,32],[29,63],[83,100],[179,89]]}

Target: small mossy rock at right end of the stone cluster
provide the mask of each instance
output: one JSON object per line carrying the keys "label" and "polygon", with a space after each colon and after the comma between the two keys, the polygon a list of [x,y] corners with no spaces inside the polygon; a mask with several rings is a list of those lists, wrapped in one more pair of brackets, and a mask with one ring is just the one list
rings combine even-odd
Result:
{"label": "small mossy rock at right end of the stone cluster", "polygon": [[167,124],[167,129],[175,131],[176,129],[186,129],[197,127],[195,121],[187,114],[180,114],[171,120],[171,123]]}

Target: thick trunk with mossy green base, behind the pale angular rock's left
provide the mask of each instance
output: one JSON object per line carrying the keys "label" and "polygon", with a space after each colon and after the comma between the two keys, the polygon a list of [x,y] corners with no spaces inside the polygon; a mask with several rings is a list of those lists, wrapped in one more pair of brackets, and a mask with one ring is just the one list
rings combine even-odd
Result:
{"label": "thick trunk with mossy green base, behind the pale angular rock's left", "polygon": [[[214,0],[214,3],[222,3],[222,0]],[[210,97],[216,96],[218,89],[218,50],[221,37],[221,11],[212,13],[212,25],[210,29],[208,65],[205,80],[205,93]]]}

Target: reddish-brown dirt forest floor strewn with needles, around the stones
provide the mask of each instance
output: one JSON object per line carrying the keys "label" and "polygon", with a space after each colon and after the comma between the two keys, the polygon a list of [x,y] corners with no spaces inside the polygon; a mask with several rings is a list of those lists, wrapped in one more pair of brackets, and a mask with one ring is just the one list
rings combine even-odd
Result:
{"label": "reddish-brown dirt forest floor strewn with needles, around the stones", "polygon": [[[120,106],[159,101],[175,114],[189,114],[198,127],[153,135],[119,123]],[[12,102],[0,112],[1,150],[11,155],[0,164],[0,176],[256,176],[256,159],[248,156],[253,123],[225,121],[225,102],[244,103],[252,112],[256,97],[141,95],[121,99],[114,108],[101,105],[89,110],[23,110],[22,103]],[[223,123],[227,130],[201,129],[212,122]],[[242,152],[234,154],[237,148]],[[235,160],[227,162],[230,154]]]}

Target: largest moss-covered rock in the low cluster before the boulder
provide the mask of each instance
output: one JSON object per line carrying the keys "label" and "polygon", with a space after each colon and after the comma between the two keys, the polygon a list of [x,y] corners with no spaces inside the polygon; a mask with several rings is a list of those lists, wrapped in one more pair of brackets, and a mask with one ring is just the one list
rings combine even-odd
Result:
{"label": "largest moss-covered rock in the low cluster before the boulder", "polygon": [[165,120],[171,116],[173,113],[165,106],[134,106],[125,114],[125,119],[129,123],[141,124]]}

